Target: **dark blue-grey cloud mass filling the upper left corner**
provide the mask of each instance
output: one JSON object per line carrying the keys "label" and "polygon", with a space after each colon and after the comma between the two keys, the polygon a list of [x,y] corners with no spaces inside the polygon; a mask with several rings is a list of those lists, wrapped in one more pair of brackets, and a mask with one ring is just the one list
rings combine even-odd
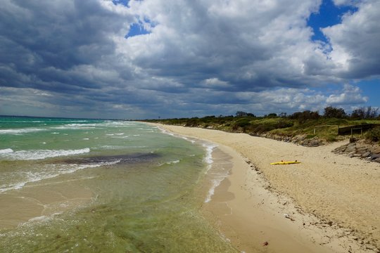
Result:
{"label": "dark blue-grey cloud mass filling the upper left corner", "polygon": [[109,35],[126,32],[127,25],[98,1],[6,1],[0,30],[1,85],[64,91],[99,89],[73,69],[99,65],[115,51]]}

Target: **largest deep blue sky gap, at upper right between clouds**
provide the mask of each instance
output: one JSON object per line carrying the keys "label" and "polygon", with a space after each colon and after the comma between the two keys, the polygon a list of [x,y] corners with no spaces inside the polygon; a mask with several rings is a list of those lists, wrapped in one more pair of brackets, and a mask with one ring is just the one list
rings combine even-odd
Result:
{"label": "largest deep blue sky gap, at upper right between clouds", "polygon": [[308,20],[308,26],[312,27],[314,32],[312,41],[329,43],[320,29],[341,23],[342,16],[345,13],[354,13],[355,11],[357,8],[354,6],[335,6],[332,0],[323,0],[319,6],[319,11],[312,13]]}

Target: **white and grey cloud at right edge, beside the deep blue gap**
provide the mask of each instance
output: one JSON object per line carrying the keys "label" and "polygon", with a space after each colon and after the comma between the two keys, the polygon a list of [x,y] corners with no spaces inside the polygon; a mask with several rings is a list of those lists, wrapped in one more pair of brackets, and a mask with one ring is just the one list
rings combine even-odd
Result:
{"label": "white and grey cloud at right edge, beside the deep blue gap", "polygon": [[340,65],[339,74],[345,79],[379,77],[380,1],[360,1],[360,4],[336,1],[336,4],[351,2],[355,2],[358,11],[343,15],[341,24],[322,29],[331,43],[329,56]]}

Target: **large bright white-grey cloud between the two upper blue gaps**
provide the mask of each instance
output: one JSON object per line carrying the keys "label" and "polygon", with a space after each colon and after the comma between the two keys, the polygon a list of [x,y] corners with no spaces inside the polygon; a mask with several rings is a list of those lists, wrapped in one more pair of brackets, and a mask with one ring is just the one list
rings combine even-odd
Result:
{"label": "large bright white-grey cloud between the two upper blue gaps", "polygon": [[189,86],[215,77],[246,91],[306,85],[304,62],[319,50],[310,43],[305,22],[315,1],[131,1],[130,6],[156,25],[151,34],[122,41],[120,52],[149,72],[180,77]]}

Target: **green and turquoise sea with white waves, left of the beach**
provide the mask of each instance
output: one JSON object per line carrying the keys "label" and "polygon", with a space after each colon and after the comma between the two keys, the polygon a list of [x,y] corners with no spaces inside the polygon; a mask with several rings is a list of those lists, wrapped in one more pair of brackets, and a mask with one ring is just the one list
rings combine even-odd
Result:
{"label": "green and turquoise sea with white waves, left of the beach", "polygon": [[0,252],[237,252],[201,212],[215,152],[143,122],[0,117]]}

